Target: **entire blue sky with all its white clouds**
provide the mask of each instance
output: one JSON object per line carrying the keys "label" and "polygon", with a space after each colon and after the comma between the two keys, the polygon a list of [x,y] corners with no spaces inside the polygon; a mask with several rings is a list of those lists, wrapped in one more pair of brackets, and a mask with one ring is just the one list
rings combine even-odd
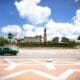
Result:
{"label": "entire blue sky with all its white clouds", "polygon": [[0,0],[0,35],[36,36],[47,29],[47,39],[80,35],[80,0]]}

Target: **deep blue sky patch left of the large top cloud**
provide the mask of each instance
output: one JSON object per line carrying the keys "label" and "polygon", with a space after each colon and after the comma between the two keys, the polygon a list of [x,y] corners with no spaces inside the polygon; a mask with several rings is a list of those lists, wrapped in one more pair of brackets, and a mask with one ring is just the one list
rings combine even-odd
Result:
{"label": "deep blue sky patch left of the large top cloud", "polygon": [[0,27],[9,24],[22,25],[25,20],[19,17],[14,5],[15,0],[0,0]]}

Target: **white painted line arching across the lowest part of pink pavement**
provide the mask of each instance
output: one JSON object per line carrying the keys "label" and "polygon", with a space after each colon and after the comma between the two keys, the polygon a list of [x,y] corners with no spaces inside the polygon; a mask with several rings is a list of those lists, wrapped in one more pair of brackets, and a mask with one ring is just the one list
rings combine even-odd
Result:
{"label": "white painted line arching across the lowest part of pink pavement", "polygon": [[52,75],[50,75],[50,74],[47,74],[47,73],[41,72],[41,71],[37,71],[37,70],[24,70],[24,71],[20,71],[20,72],[16,72],[16,73],[13,73],[13,74],[4,76],[4,77],[2,77],[2,78],[3,78],[3,79],[9,79],[9,78],[13,78],[13,77],[16,77],[16,76],[20,76],[20,75],[22,75],[22,74],[24,74],[24,73],[29,73],[29,72],[38,74],[38,75],[43,76],[43,77],[48,78],[48,79],[50,79],[50,78],[51,78],[51,79],[54,79],[54,80],[56,79],[55,76],[52,76]]}

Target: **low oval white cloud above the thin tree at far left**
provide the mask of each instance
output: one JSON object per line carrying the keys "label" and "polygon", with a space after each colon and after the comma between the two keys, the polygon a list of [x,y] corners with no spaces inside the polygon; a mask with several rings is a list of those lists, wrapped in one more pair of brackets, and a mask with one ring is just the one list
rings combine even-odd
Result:
{"label": "low oval white cloud above the thin tree at far left", "polygon": [[22,29],[18,25],[7,25],[7,26],[2,27],[1,31],[3,33],[8,33],[8,32],[21,33]]}

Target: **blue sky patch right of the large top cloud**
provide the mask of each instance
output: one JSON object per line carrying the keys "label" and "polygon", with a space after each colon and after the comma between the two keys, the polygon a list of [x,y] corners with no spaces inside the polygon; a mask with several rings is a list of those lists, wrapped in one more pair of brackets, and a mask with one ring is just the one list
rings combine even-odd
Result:
{"label": "blue sky patch right of the large top cloud", "polygon": [[71,22],[76,10],[80,8],[80,1],[75,2],[75,0],[42,0],[42,5],[47,5],[51,8],[51,17],[56,22]]}

